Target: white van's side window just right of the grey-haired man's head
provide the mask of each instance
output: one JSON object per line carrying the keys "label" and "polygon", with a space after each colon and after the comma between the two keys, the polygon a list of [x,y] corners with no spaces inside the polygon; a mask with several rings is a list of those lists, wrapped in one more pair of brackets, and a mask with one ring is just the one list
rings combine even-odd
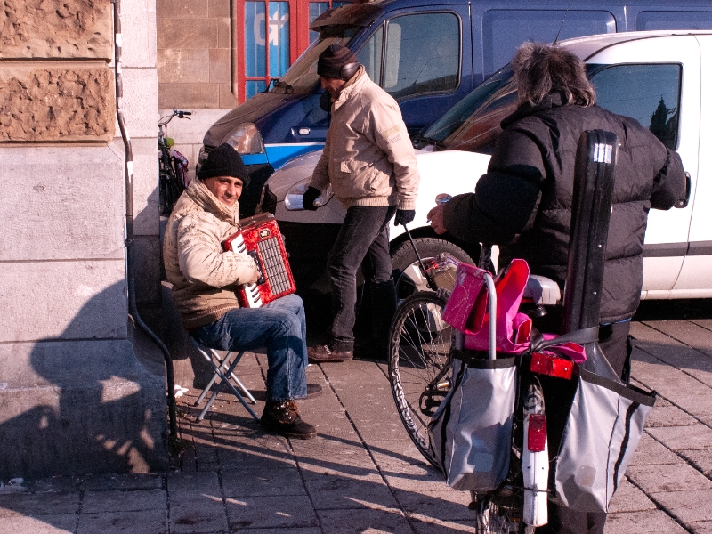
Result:
{"label": "white van's side window just right of the grey-haired man's head", "polygon": [[667,146],[677,146],[682,67],[677,64],[613,65],[595,72],[596,103],[633,117]]}

